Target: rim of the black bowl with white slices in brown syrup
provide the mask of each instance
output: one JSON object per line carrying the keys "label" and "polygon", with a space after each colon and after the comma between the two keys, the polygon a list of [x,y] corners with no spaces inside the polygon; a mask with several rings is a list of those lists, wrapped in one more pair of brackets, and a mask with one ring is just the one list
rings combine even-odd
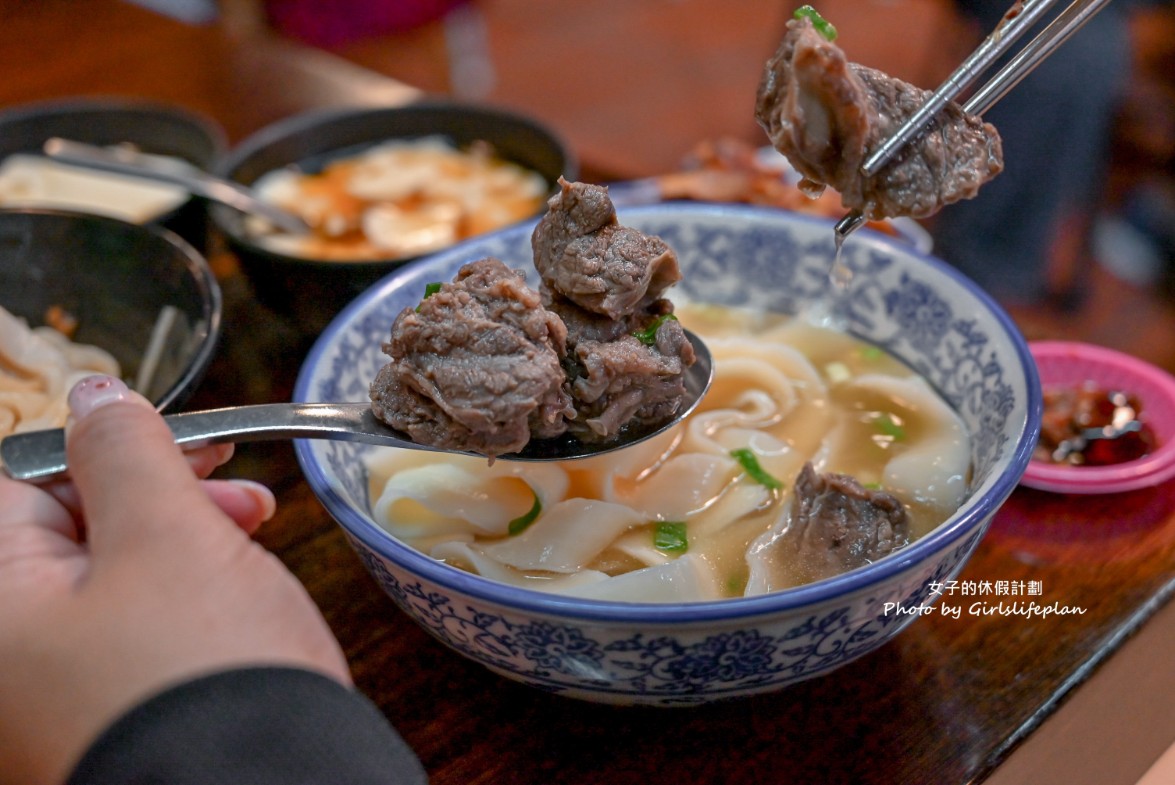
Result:
{"label": "rim of the black bowl with white slices in brown syrup", "polygon": [[[550,127],[542,120],[526,115],[521,112],[512,109],[492,106],[488,103],[478,103],[474,101],[456,101],[456,100],[444,100],[436,98],[424,98],[410,103],[403,103],[397,106],[383,106],[383,107],[327,107],[320,109],[309,109],[307,112],[301,112],[298,114],[290,115],[288,118],[282,118],[254,132],[239,145],[227,150],[223,155],[217,157],[214,162],[212,170],[215,175],[224,177],[227,180],[236,181],[233,176],[233,172],[249,156],[257,153],[257,150],[269,147],[282,139],[290,136],[293,134],[301,133],[303,130],[311,129],[316,126],[323,123],[334,123],[341,120],[349,120],[352,118],[369,118],[369,116],[408,116],[414,114],[428,114],[444,112],[450,113],[455,116],[459,115],[477,115],[482,118],[494,118],[501,119],[509,122],[518,123],[519,126],[526,126],[536,132],[545,135],[551,140],[553,146],[559,150],[563,157],[563,175],[570,179],[578,176],[579,172],[579,160],[568,143],[566,139],[557,132],[555,128]],[[444,128],[437,128],[436,134],[443,135],[445,133]],[[389,136],[389,140],[396,139],[395,136]],[[371,143],[378,143],[380,140],[371,140]],[[294,163],[293,161],[290,163]],[[267,248],[266,246],[255,242],[249,239],[246,234],[237,232],[236,226],[231,221],[226,221],[223,216],[228,215],[231,208],[222,204],[209,204],[208,214],[212,219],[213,224],[216,229],[222,233],[228,240],[235,244],[247,248],[250,254],[255,254],[270,262],[277,262],[282,264],[290,264],[294,267],[302,267],[307,269],[347,269],[347,267],[381,267],[389,264],[407,264],[409,262],[415,262],[418,260],[427,259],[434,253],[443,253],[451,248],[456,248],[459,243],[448,246],[437,251],[430,251],[425,255],[411,255],[411,256],[396,256],[396,257],[374,257],[374,259],[345,259],[345,260],[321,260],[310,259],[304,256],[295,256],[293,254],[283,254],[277,250]],[[523,219],[518,223],[525,223],[533,219]],[[517,226],[518,223],[510,224]],[[502,227],[503,229],[510,227]],[[485,236],[485,235],[479,235]],[[464,242],[464,241],[463,241]]]}

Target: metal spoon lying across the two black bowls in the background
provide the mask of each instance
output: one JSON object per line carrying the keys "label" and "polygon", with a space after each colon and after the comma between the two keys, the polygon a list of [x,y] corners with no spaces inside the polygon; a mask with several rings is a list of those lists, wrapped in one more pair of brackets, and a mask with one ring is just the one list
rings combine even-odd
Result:
{"label": "metal spoon lying across the two black bowls in the background", "polygon": [[62,163],[179,186],[201,199],[261,216],[282,232],[306,234],[310,230],[301,216],[267,202],[254,190],[230,180],[215,177],[182,161],[145,155],[129,148],[96,147],[58,137],[46,141],[42,150],[51,159]]}

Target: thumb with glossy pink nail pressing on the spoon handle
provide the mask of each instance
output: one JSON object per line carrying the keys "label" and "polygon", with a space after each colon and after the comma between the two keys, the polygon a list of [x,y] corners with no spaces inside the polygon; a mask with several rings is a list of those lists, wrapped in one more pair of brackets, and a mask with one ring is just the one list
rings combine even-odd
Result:
{"label": "thumb with glossy pink nail pressing on the spoon handle", "polygon": [[149,545],[212,516],[231,525],[201,489],[170,429],[150,402],[112,376],[69,391],[69,474],[93,552]]}

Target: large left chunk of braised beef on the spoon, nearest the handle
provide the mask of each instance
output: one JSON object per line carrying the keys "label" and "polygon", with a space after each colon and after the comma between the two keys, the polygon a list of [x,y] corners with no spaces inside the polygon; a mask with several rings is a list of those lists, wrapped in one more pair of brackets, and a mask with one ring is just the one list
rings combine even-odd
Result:
{"label": "large left chunk of braised beef on the spoon, nearest the handle", "polygon": [[377,417],[412,441],[494,457],[558,436],[575,416],[560,358],[566,329],[497,259],[396,317],[371,383]]}

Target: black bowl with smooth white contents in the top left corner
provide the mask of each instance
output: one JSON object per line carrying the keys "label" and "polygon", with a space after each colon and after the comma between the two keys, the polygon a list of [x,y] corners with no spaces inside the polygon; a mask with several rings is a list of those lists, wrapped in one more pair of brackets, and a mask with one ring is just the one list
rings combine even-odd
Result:
{"label": "black bowl with smooth white contents in the top left corner", "polygon": [[[27,103],[0,112],[0,161],[16,153],[40,153],[53,136],[101,147],[133,145],[143,153],[170,155],[210,169],[228,148],[212,120],[179,107],[119,98],[78,98]],[[204,251],[208,212],[189,199],[152,221]]]}

